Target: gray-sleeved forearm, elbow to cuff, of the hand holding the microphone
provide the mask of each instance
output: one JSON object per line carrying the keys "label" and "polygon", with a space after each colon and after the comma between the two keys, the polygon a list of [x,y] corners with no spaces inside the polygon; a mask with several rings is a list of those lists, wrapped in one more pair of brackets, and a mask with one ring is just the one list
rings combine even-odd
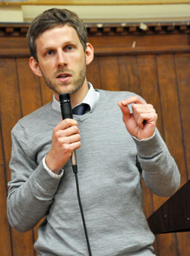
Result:
{"label": "gray-sleeved forearm, elbow to cuff, of the hand holding the microphone", "polygon": [[59,181],[49,175],[42,162],[27,181],[11,181],[8,192],[8,220],[11,226],[20,232],[32,229],[46,215]]}

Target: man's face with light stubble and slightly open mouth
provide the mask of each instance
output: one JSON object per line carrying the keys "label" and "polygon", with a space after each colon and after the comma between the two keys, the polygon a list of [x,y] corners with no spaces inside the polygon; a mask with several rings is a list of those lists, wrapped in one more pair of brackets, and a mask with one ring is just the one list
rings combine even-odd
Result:
{"label": "man's face with light stubble and slightly open mouth", "polygon": [[87,53],[73,27],[46,30],[36,39],[36,52],[41,75],[57,98],[60,93],[87,90]]}

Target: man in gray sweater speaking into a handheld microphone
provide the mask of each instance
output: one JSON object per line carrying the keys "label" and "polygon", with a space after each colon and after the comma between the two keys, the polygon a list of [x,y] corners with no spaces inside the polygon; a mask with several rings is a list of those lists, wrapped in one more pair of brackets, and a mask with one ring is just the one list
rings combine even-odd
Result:
{"label": "man in gray sweater speaking into a handheld microphone", "polygon": [[[25,232],[46,216],[34,245],[40,255],[88,254],[69,160],[78,149],[92,254],[154,255],[154,235],[142,210],[141,176],[154,194],[166,197],[175,193],[180,180],[156,129],[154,107],[130,92],[93,89],[86,79],[93,46],[71,11],[40,14],[30,25],[27,41],[30,68],[43,76],[54,98],[12,130],[11,226]],[[71,94],[74,113],[78,105],[87,104],[86,113],[61,120],[61,93]]]}

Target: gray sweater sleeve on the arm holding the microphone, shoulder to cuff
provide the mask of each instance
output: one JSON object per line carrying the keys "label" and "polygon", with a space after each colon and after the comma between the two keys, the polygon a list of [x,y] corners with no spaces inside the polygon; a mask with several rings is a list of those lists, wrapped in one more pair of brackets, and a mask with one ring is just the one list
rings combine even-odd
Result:
{"label": "gray sweater sleeve on the arm holding the microphone, shoulder to cuff", "polygon": [[17,123],[11,133],[11,181],[8,183],[8,220],[17,231],[33,228],[49,209],[60,179],[52,178],[28,155],[24,128]]}

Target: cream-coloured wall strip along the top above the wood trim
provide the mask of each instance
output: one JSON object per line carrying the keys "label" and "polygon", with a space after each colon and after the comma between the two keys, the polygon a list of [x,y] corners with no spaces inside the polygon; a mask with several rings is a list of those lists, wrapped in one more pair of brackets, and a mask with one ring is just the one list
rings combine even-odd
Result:
{"label": "cream-coloured wall strip along the top above the wood trim", "polygon": [[183,5],[0,5],[0,22],[28,22],[48,8],[68,8],[84,22],[189,21],[190,4]]}

